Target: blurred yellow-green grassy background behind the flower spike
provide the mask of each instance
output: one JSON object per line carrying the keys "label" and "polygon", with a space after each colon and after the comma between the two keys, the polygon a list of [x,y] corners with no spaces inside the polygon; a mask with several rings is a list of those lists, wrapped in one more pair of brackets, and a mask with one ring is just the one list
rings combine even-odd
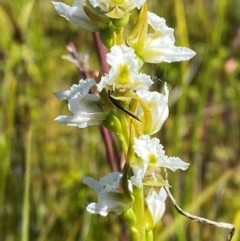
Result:
{"label": "blurred yellow-green grassy background behind the flower spike", "polygon": [[[234,223],[240,240],[240,1],[148,2],[175,29],[176,45],[197,52],[188,63],[146,69],[156,89],[172,89],[161,143],[191,164],[169,173],[172,192],[186,211]],[[69,42],[99,70],[91,33],[58,16],[50,0],[0,0],[0,240],[117,241],[123,232],[118,217],[85,212],[96,196],[82,176],[109,172],[99,128],[54,122],[68,111],[53,93],[80,78],[61,58]],[[180,216],[168,200],[155,240],[227,234]]]}

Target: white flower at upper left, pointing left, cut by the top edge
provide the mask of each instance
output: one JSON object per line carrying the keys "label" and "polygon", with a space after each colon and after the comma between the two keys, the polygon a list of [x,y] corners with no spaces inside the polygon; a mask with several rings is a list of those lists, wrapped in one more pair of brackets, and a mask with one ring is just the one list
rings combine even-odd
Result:
{"label": "white flower at upper left, pointing left, cut by the top edge", "polygon": [[82,3],[84,0],[75,0],[72,6],[61,2],[52,2],[58,14],[68,21],[83,27],[91,32],[98,31],[94,22],[86,15]]}

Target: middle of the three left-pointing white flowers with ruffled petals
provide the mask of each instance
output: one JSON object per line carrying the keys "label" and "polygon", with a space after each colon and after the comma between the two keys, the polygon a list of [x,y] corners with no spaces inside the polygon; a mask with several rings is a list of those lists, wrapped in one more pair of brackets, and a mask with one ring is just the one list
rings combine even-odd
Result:
{"label": "middle of the three left-pointing white flowers with ruffled petals", "polygon": [[102,103],[96,95],[88,94],[95,84],[95,80],[91,78],[80,80],[79,84],[74,84],[70,90],[55,93],[58,99],[68,100],[68,109],[74,114],[60,115],[55,121],[79,128],[100,125],[106,118]]}

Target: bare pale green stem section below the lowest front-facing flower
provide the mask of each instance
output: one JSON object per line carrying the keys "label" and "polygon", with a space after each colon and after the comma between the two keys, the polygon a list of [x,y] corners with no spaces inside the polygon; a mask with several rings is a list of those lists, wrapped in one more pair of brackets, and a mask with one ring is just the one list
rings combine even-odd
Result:
{"label": "bare pale green stem section below the lowest front-facing flower", "polygon": [[[134,201],[134,212],[136,215],[136,226],[135,229],[138,232],[138,239],[134,239],[134,241],[146,241],[145,236],[145,217],[144,217],[144,195],[143,195],[143,187],[133,187],[133,196],[135,198]],[[134,237],[133,237],[134,238]]]}

